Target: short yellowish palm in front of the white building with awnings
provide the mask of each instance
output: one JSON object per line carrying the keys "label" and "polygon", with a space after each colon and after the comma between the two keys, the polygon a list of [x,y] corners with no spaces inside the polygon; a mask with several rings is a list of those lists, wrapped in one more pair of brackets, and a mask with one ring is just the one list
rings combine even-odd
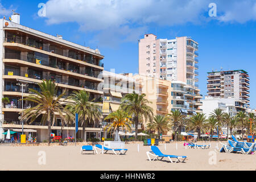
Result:
{"label": "short yellowish palm in front of the white building with awnings", "polygon": [[126,129],[126,131],[131,131],[131,121],[130,121],[130,115],[126,113],[125,111],[118,109],[117,111],[110,113],[105,120],[110,119],[111,123],[105,126],[104,131],[118,131],[119,128],[122,127],[123,129]]}

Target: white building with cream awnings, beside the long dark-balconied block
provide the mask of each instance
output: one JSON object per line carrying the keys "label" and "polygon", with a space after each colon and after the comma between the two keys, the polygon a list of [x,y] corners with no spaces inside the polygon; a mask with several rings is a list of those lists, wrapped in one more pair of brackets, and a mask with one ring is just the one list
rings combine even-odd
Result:
{"label": "white building with cream awnings, beside the long dark-balconied block", "polygon": [[[104,118],[119,109],[121,100],[126,94],[133,92],[141,94],[139,82],[136,82],[133,77],[126,75],[127,74],[117,74],[108,71],[102,72],[104,78],[102,114]],[[102,127],[108,125],[109,122],[110,121],[102,122]],[[131,129],[135,131],[135,126],[132,125]],[[141,129],[141,125],[138,126],[138,129]]]}

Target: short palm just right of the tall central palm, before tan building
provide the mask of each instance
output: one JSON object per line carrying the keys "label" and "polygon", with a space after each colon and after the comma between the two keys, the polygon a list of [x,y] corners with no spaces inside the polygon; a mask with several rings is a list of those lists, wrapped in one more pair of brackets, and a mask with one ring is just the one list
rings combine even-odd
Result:
{"label": "short palm just right of the tall central palm, before tan building", "polygon": [[166,115],[155,115],[153,121],[147,124],[147,128],[148,130],[158,131],[158,137],[160,137],[160,133],[170,131],[171,125]]}

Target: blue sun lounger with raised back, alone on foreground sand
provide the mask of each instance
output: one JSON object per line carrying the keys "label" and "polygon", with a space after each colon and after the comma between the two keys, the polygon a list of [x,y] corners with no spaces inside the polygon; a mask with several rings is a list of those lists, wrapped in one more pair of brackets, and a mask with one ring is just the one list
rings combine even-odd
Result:
{"label": "blue sun lounger with raised back, alone on foreground sand", "polygon": [[[181,162],[184,162],[187,159],[187,156],[179,156],[179,155],[164,155],[157,146],[151,146],[151,151],[146,152],[147,157],[150,161],[154,161],[155,159],[162,160],[163,158],[168,158],[171,163],[173,163],[171,158],[175,158],[177,162],[180,162],[180,159],[183,159]],[[154,156],[154,159],[150,159],[150,155]],[[159,159],[160,158],[160,159]]]}

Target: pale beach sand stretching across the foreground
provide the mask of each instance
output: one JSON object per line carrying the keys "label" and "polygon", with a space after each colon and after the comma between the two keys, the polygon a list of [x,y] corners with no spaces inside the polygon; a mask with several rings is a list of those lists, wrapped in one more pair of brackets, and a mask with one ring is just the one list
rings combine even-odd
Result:
{"label": "pale beach sand stretching across the foreground", "polygon": [[[197,144],[200,144],[198,142]],[[201,142],[201,144],[209,144]],[[218,143],[220,148],[222,145]],[[185,155],[185,163],[170,163],[168,159],[150,162],[146,152],[149,146],[139,144],[126,144],[126,155],[110,154],[84,154],[81,155],[81,146],[0,146],[0,170],[82,170],[82,171],[174,171],[174,170],[256,170],[256,156],[243,154],[226,154],[211,152],[216,149],[216,142],[212,142],[209,149],[190,149],[183,143],[159,144],[163,154]],[[46,154],[46,164],[42,161],[40,151]],[[212,154],[212,155],[209,155]],[[42,154],[42,153],[41,153]],[[209,164],[209,159],[216,155],[216,164]],[[213,161],[214,160],[210,160]]]}

